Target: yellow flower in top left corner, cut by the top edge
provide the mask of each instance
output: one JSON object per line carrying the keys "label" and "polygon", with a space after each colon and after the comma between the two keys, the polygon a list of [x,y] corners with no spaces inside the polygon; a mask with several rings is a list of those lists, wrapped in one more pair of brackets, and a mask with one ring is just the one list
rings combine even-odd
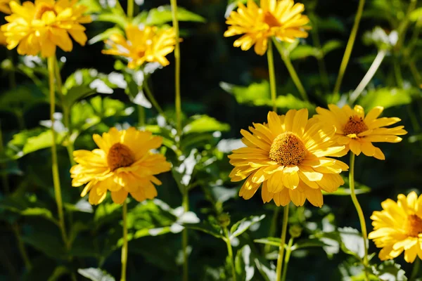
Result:
{"label": "yellow flower in top left corner, cut by the top edge", "polygon": [[63,51],[72,51],[69,34],[84,46],[87,41],[82,23],[91,22],[83,15],[86,6],[77,5],[77,0],[35,0],[22,6],[11,2],[12,14],[6,16],[8,23],[1,27],[9,50],[18,46],[20,55],[38,55],[44,58],[56,54],[56,46]]}

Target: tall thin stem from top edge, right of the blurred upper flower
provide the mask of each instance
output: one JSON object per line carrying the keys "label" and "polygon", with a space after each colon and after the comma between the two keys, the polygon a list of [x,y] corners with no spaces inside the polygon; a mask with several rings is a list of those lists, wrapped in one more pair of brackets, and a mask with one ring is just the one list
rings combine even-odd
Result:
{"label": "tall thin stem from top edge, right of the blurred upper flower", "polygon": [[181,135],[181,98],[180,98],[180,44],[179,44],[179,21],[177,20],[177,0],[170,0],[172,5],[173,28],[176,33],[176,45],[174,46],[174,90],[176,92],[176,124],[177,134]]}

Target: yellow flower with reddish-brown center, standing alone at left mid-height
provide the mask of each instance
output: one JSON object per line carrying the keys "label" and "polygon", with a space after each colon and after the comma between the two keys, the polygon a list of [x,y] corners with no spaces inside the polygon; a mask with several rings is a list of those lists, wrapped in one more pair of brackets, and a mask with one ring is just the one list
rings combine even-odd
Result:
{"label": "yellow flower with reddish-brown center, standing alone at left mid-height", "polygon": [[78,164],[70,169],[72,186],[87,183],[81,197],[89,192],[89,203],[100,204],[110,190],[113,201],[122,204],[128,192],[139,202],[157,196],[153,183],[161,181],[154,175],[170,171],[170,163],[150,150],[160,148],[162,137],[131,127],[93,138],[99,149],[73,152]]}

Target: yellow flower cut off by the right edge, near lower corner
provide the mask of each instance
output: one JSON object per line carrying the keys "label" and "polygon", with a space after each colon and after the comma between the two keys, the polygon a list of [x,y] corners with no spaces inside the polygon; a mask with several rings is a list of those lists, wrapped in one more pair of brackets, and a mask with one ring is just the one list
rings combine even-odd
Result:
{"label": "yellow flower cut off by the right edge, near lower corner", "polygon": [[378,255],[382,261],[394,259],[404,251],[404,260],[413,263],[416,255],[422,259],[422,196],[410,192],[397,196],[397,202],[388,199],[381,203],[383,211],[374,211],[373,239],[383,248]]}

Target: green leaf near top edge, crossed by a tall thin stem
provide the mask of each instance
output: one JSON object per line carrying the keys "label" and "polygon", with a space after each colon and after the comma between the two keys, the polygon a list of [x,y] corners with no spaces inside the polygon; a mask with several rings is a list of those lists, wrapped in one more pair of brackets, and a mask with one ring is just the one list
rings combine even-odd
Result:
{"label": "green leaf near top edge, crossed by a tall thin stem", "polygon": [[[151,9],[145,24],[164,25],[167,22],[171,22],[172,19],[172,8],[170,5],[165,5]],[[181,7],[177,8],[177,19],[181,22],[205,22],[205,18]]]}

